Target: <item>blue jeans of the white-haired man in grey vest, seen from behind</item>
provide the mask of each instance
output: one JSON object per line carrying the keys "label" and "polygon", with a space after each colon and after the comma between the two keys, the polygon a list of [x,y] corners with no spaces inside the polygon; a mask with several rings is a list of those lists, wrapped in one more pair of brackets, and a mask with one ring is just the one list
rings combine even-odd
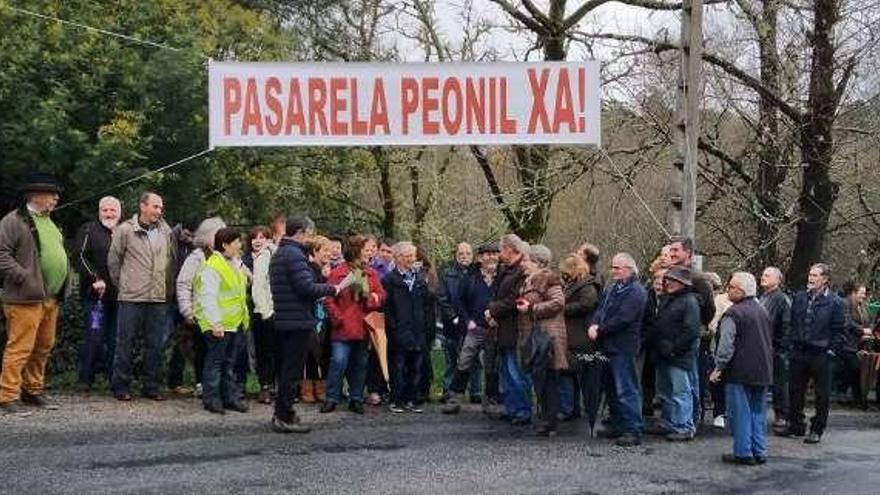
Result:
{"label": "blue jeans of the white-haired man in grey vest, seen from behind", "polygon": [[727,424],[737,457],[767,457],[768,389],[766,385],[725,385]]}

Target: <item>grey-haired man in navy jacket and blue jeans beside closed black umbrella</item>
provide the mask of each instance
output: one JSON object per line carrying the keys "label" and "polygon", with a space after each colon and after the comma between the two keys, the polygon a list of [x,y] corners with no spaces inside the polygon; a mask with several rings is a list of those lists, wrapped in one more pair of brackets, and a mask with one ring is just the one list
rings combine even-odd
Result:
{"label": "grey-haired man in navy jacket and blue jeans beside closed black umbrella", "polygon": [[642,339],[642,323],[647,302],[645,288],[638,281],[633,257],[618,253],[611,260],[613,285],[605,291],[587,335],[608,355],[605,389],[611,410],[612,437],[617,445],[641,444],[642,394],[636,372],[636,359]]}

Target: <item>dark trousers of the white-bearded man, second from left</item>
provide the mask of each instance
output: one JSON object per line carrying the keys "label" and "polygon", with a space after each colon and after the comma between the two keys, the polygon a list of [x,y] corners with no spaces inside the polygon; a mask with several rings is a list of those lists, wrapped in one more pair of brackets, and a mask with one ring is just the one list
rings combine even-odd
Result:
{"label": "dark trousers of the white-bearded man, second from left", "polygon": [[116,352],[116,303],[104,302],[104,325],[90,328],[92,308],[97,301],[91,297],[82,300],[85,312],[83,341],[79,348],[79,382],[92,385],[95,375],[103,371],[110,380],[113,374],[113,354]]}

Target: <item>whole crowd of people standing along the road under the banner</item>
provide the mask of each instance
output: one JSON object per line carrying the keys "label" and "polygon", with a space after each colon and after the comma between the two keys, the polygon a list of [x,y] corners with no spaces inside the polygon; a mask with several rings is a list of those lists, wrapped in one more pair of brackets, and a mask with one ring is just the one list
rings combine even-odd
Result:
{"label": "whole crowd of people standing along the road under the banner", "polygon": [[[310,430],[297,402],[319,403],[323,414],[343,406],[364,414],[365,405],[423,413],[437,340],[442,413],[470,401],[541,436],[585,416],[591,434],[601,418],[601,433],[620,446],[646,434],[683,442],[711,409],[710,424],[734,438],[723,459],[762,464],[771,403],[778,435],[821,441],[833,362],[854,403],[867,408],[859,354],[874,339],[865,285],[849,282],[840,297],[826,264],[812,266],[806,290],[789,295],[776,267],[760,282],[736,272],[723,283],[693,266],[691,239],[676,237],[646,277],[630,254],[611,256],[606,282],[592,244],[557,261],[546,246],[506,234],[476,253],[459,244],[440,272],[411,242],[323,236],[306,216],[279,216],[246,236],[218,217],[171,227],[151,192],[125,220],[119,200],[101,199],[68,256],[50,217],[59,193],[51,176],[35,174],[21,208],[0,221],[4,414],[58,407],[44,375],[73,269],[86,326],[82,390],[103,373],[116,399],[133,400],[140,339],[143,397],[163,401],[167,387],[193,393],[210,413],[246,413],[253,372],[255,399],[274,404],[271,426],[280,433]],[[816,412],[808,425],[810,383]]]}

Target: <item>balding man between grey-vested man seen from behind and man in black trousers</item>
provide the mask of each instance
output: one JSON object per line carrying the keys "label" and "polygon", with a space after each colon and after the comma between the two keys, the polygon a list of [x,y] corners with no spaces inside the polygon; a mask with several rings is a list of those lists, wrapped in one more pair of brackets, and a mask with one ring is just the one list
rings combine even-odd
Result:
{"label": "balding man between grey-vested man seen from behind and man in black trousers", "polygon": [[782,291],[782,272],[775,266],[761,274],[761,305],[770,316],[773,333],[773,426],[784,428],[788,417],[788,373],[786,344],[791,328],[791,300]]}

